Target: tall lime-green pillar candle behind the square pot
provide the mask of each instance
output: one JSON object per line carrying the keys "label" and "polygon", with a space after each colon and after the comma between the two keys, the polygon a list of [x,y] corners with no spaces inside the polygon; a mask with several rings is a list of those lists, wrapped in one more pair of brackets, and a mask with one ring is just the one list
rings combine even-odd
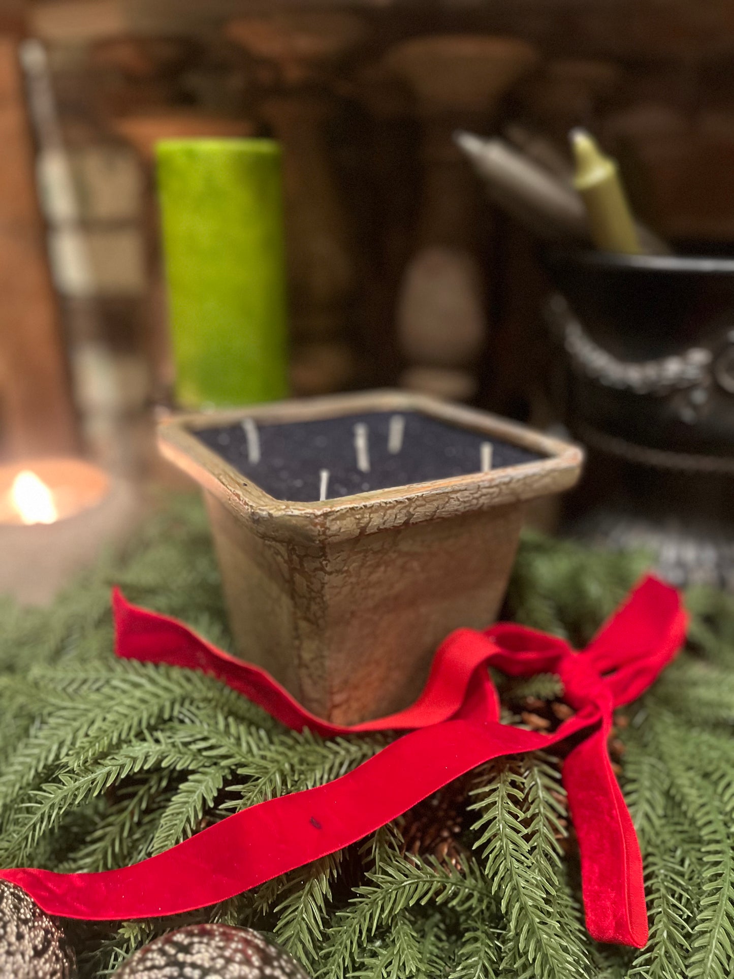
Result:
{"label": "tall lime-green pillar candle behind the square pot", "polygon": [[279,145],[171,139],[156,151],[179,404],[286,396]]}

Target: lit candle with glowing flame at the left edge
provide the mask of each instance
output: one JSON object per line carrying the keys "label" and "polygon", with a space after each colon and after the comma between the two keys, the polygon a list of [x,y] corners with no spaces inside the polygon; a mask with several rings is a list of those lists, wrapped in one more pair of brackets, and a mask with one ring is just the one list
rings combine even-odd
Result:
{"label": "lit candle with glowing flame at the left edge", "polygon": [[130,529],[137,510],[127,484],[81,459],[0,466],[0,595],[50,601]]}

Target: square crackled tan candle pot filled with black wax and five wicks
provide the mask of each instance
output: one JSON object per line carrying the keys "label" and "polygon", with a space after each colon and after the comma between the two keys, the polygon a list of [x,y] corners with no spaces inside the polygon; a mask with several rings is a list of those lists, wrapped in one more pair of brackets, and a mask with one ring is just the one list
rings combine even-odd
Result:
{"label": "square crackled tan candle pot filled with black wax and five wicks", "polygon": [[159,441],[204,488],[240,654],[339,723],[406,706],[452,629],[493,621],[524,503],[581,464],[521,425],[390,391],[175,416]]}

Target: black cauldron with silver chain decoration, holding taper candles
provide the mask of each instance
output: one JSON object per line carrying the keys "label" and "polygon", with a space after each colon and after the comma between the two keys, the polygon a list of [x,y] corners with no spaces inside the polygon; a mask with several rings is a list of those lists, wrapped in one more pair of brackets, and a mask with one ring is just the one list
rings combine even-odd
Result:
{"label": "black cauldron with silver chain decoration, holding taper candles", "polygon": [[573,533],[734,589],[734,259],[550,252],[565,413],[590,449]]}

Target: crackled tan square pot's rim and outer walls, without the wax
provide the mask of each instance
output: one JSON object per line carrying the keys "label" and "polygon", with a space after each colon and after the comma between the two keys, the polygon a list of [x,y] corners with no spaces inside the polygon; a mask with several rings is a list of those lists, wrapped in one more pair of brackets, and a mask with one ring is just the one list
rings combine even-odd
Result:
{"label": "crackled tan square pot's rim and outer walls, without the wax", "polygon": [[[420,412],[528,451],[521,465],[316,502],[278,500],[196,431],[362,411]],[[497,613],[526,500],[573,486],[580,451],[484,412],[376,392],[175,418],[161,450],[202,484],[241,655],[314,713],[357,723],[406,706],[438,643]],[[479,464],[478,464],[479,468]]]}

